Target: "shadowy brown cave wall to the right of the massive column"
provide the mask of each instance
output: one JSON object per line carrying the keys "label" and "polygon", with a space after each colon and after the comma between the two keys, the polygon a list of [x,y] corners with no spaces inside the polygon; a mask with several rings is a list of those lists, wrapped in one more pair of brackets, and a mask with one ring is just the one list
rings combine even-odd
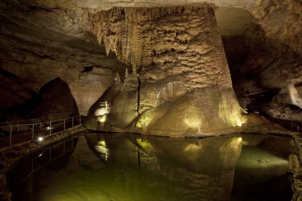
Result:
{"label": "shadowy brown cave wall to the right of the massive column", "polygon": [[253,20],[244,33],[220,32],[239,103],[250,112],[301,120],[301,2],[255,6],[246,8]]}

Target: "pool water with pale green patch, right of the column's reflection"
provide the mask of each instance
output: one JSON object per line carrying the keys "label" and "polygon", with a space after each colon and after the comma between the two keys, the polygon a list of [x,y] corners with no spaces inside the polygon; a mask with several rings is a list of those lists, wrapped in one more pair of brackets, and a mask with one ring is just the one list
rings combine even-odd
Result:
{"label": "pool water with pale green patch, right of the column's reflection", "polygon": [[287,161],[259,146],[244,147],[235,170],[231,200],[291,200]]}

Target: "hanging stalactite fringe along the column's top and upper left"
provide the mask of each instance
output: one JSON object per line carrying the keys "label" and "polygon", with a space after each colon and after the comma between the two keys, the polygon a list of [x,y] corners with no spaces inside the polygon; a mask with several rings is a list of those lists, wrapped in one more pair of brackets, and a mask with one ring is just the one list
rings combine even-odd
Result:
{"label": "hanging stalactite fringe along the column's top and upper left", "polygon": [[[212,17],[213,8],[212,5],[208,4],[155,8],[114,7],[109,11],[90,14],[89,21],[93,34],[98,38],[98,43],[104,42],[107,56],[112,51],[122,62],[141,67],[150,64],[151,59],[147,57],[151,55],[147,52],[152,52],[143,46],[146,37],[145,32],[149,31],[145,22],[156,23],[156,20],[161,17],[185,13],[187,15],[208,13]],[[176,31],[179,32],[180,30]],[[125,33],[128,34],[125,35]],[[164,49],[164,51],[169,50],[171,48]],[[161,54],[163,50],[157,49],[156,52]]]}

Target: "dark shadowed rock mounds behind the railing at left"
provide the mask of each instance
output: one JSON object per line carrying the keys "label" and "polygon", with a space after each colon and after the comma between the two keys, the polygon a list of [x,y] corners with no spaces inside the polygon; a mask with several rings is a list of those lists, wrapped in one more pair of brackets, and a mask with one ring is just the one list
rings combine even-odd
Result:
{"label": "dark shadowed rock mounds behind the railing at left", "polygon": [[[79,115],[77,103],[68,84],[59,77],[44,84],[39,93],[23,86],[22,80],[16,75],[11,75],[9,78],[8,73],[6,73],[3,82],[1,82],[1,89],[7,95],[4,99],[11,100],[10,103],[3,102],[4,108],[6,103],[10,104],[10,107],[0,110],[2,122],[9,123],[10,121],[42,117],[45,119],[40,121],[50,121],[51,118],[58,120]],[[18,93],[20,90],[22,93]]]}

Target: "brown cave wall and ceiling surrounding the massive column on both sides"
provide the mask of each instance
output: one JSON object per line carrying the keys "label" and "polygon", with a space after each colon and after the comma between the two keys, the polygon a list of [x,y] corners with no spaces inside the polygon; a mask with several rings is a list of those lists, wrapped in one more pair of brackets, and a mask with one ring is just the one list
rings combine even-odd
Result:
{"label": "brown cave wall and ceiling surrounding the massive column on both sides", "polygon": [[[3,0],[0,68],[23,78],[22,84],[36,92],[59,76],[70,86],[79,110],[87,111],[110,86],[116,73],[124,78],[127,67],[112,52],[106,57],[104,43],[96,44],[89,16],[113,7],[169,7],[204,2],[215,6],[240,105],[250,111],[300,120],[300,109],[291,102],[278,102],[280,98],[276,96],[287,85],[294,85],[297,90],[301,85],[302,6],[298,0]],[[263,96],[267,96],[265,101]]]}

